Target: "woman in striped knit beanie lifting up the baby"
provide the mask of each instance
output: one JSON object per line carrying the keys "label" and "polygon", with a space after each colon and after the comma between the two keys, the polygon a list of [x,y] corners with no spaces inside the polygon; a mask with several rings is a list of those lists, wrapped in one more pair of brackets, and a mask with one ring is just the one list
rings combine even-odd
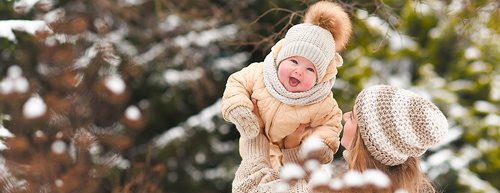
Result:
{"label": "woman in striped knit beanie lifting up the baby", "polygon": [[[448,130],[446,117],[432,102],[404,89],[374,86],[356,97],[353,112],[345,113],[344,121],[341,145],[346,148],[344,158],[350,169],[384,171],[391,180],[384,189],[387,192],[436,192],[420,171],[418,159]],[[300,161],[298,147],[308,133],[304,128],[285,139],[285,162]],[[233,192],[273,192],[280,180],[278,171],[270,167],[268,146],[262,134],[240,138],[242,162]],[[356,190],[363,191],[372,190]],[[312,188],[302,179],[288,192],[312,192]]]}

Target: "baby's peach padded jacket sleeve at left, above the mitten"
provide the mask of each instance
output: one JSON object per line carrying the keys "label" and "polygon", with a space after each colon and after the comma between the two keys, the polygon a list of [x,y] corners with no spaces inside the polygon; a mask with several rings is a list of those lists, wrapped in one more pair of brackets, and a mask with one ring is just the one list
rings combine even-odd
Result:
{"label": "baby's peach padded jacket sleeve at left, above the mitten", "polygon": [[227,79],[226,89],[222,95],[222,116],[226,121],[229,121],[229,112],[238,106],[253,110],[250,97],[258,68],[258,63],[250,64]]}

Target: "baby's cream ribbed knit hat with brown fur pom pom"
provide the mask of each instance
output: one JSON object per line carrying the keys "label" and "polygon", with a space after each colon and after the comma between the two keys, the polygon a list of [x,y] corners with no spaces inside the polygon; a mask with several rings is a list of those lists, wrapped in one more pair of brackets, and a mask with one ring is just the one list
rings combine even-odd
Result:
{"label": "baby's cream ribbed knit hat with brown fur pom pom", "polygon": [[351,31],[349,16],[339,5],[317,2],[307,10],[304,23],[288,30],[276,63],[292,56],[302,56],[314,64],[317,82],[322,82],[329,65],[342,65],[337,52],[347,44]]}

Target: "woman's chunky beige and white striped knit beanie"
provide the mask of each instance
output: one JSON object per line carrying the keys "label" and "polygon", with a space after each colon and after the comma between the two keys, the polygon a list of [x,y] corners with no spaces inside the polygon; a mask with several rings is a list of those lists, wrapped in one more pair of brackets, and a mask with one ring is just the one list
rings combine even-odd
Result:
{"label": "woman's chunky beige and white striped knit beanie", "polygon": [[366,148],[390,166],[422,155],[448,131],[446,117],[436,105],[387,85],[363,90],[356,98],[355,113]]}

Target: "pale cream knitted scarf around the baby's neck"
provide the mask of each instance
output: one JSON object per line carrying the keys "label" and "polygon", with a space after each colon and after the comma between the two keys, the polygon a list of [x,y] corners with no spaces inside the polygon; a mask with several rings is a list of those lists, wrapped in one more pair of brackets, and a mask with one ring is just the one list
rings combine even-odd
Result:
{"label": "pale cream knitted scarf around the baby's neck", "polygon": [[264,84],[267,91],[282,103],[287,105],[310,105],[323,100],[332,92],[335,77],[316,84],[304,92],[287,91],[278,79],[277,66],[273,53],[269,53],[264,59]]}

